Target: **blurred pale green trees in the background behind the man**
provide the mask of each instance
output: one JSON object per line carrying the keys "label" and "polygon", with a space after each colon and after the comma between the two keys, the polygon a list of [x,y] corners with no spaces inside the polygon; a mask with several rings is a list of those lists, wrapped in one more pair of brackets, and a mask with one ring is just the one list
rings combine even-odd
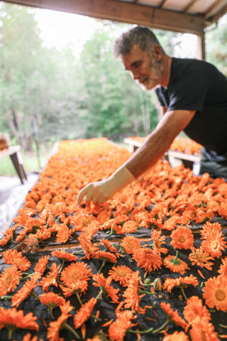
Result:
{"label": "blurred pale green trees in the background behind the man", "polygon": [[[155,129],[155,92],[140,90],[111,53],[114,38],[131,25],[100,22],[76,58],[72,45],[43,43],[34,11],[0,3],[0,131],[21,145],[27,173],[45,166],[55,141],[107,136],[122,145]],[[153,31],[178,57],[183,34]],[[226,17],[206,33],[207,60],[225,75],[226,33]],[[185,57],[195,58],[194,50]],[[1,159],[0,175],[15,174],[11,160]]]}

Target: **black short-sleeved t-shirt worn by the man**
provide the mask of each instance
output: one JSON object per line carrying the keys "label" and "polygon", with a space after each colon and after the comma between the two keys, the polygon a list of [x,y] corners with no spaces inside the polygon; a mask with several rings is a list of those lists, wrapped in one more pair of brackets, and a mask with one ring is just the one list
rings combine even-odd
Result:
{"label": "black short-sleeved t-shirt worn by the man", "polygon": [[167,88],[155,92],[163,107],[196,110],[184,132],[211,161],[227,163],[227,78],[202,60],[172,58]]}

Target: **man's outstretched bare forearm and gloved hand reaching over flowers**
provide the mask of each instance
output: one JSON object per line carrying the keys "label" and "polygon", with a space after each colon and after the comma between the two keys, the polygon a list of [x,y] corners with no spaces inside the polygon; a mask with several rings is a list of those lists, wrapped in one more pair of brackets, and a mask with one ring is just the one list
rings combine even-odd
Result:
{"label": "man's outstretched bare forearm and gloved hand reaching over flowers", "polygon": [[182,129],[189,124],[195,110],[174,110],[166,112],[153,133],[151,133],[143,145],[108,179],[97,183],[89,183],[80,190],[77,202],[85,202],[89,205],[102,204],[111,199],[119,190],[126,187],[133,180],[148,171],[162,157],[172,144],[172,141]]}

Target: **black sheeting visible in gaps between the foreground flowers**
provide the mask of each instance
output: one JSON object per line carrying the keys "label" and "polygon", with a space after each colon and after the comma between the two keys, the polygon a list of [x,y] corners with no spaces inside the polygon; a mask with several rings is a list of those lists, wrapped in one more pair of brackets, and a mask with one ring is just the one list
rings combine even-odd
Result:
{"label": "black sheeting visible in gaps between the foreground flowers", "polygon": [[[219,222],[221,222],[221,220],[219,220]],[[149,229],[145,229],[148,232],[148,235],[150,237],[150,230]],[[140,234],[138,236],[138,234]],[[142,237],[143,232],[140,232],[140,229],[138,230],[138,237]],[[223,234],[225,235],[225,237],[227,236],[227,230],[223,230]],[[134,234],[136,235],[136,234]],[[147,237],[148,237],[147,235]],[[113,237],[113,236],[111,236]],[[121,236],[120,236],[121,237]],[[144,236],[145,237],[145,236]],[[200,234],[194,234],[194,246],[195,247],[199,247],[199,245],[201,244],[201,239],[199,239]],[[169,250],[168,254],[172,254],[175,255],[176,254],[176,250],[172,247],[172,245],[170,244],[170,237],[166,237],[165,241],[167,242],[167,248]],[[147,244],[146,242],[141,242],[141,244]],[[64,245],[62,245],[62,247],[64,247]],[[104,248],[101,248],[104,249]],[[72,252],[73,250],[69,250],[68,252]],[[202,281],[206,281],[208,278],[213,277],[213,276],[218,276],[218,269],[220,268],[221,265],[221,259],[215,259],[214,261],[214,266],[212,271],[208,271],[204,268],[200,268],[199,266],[192,266],[191,261],[189,261],[189,254],[190,254],[190,250],[179,250],[179,258],[182,259],[183,261],[186,261],[189,269],[187,270],[186,274],[184,274],[183,276],[189,276],[190,274],[193,274],[194,276],[196,276],[198,278],[199,281],[199,286],[197,286],[196,288],[194,288],[193,286],[189,286],[188,288],[184,289],[184,292],[187,296],[187,298],[191,297],[191,296],[198,296],[199,298],[202,298],[202,289],[200,287],[200,284]],[[53,257],[51,255],[50,251],[45,251],[44,252],[36,252],[35,254],[23,254],[24,256],[26,256],[27,259],[29,259],[31,261],[31,269],[29,269],[28,271],[33,270],[35,264],[37,263],[38,259],[40,258],[40,256],[43,256],[44,254],[50,254],[50,259],[48,262],[48,266],[51,266],[52,262],[55,262],[57,264],[60,264],[60,261],[56,258]],[[162,255],[162,260],[165,258],[166,255]],[[77,254],[78,257],[78,261],[80,261],[80,259],[84,256],[84,254]],[[223,251],[223,256],[227,256],[227,251]],[[83,259],[82,261],[84,261],[86,264],[89,264],[89,266],[92,269],[92,273],[93,274],[97,274],[100,266],[101,266],[101,261],[99,259],[90,259],[89,261],[87,259]],[[67,266],[69,263],[67,263],[65,266]],[[109,270],[111,269],[111,267],[114,264],[111,263],[106,263],[106,265],[104,266],[103,269],[103,274],[104,277],[108,276]],[[140,271],[140,275],[142,276],[142,279],[144,280],[144,274],[145,271],[143,269],[140,269],[136,266],[135,261],[133,261],[133,263],[131,263],[128,260],[128,257],[119,257],[118,261],[117,261],[117,265],[126,265],[129,266],[133,271]],[[0,271],[4,271],[4,269],[6,268],[6,264],[4,264],[3,260],[1,259],[0,261]],[[201,273],[204,275],[204,278],[201,278],[201,276],[198,274],[198,269],[201,271]],[[48,274],[48,270],[45,271],[45,273],[43,274],[43,276],[46,276]],[[166,269],[165,266],[162,266],[162,269],[160,271],[152,271],[150,274],[147,275],[146,278],[150,278],[150,281],[154,281],[155,278],[160,277],[162,279],[162,283],[164,283],[165,278],[166,277],[171,277],[171,278],[177,278],[181,276],[178,273],[173,274],[170,270]],[[18,288],[16,289],[16,291],[21,288],[21,286],[23,286],[24,281],[21,281],[20,285],[18,286]],[[92,285],[93,280],[90,279],[89,280],[89,288],[88,291],[85,295],[82,296],[82,300],[84,302],[87,302],[90,298],[96,297],[99,293],[99,288],[96,288],[95,286]],[[120,288],[120,291],[118,292],[118,296],[119,296],[119,301],[124,301],[124,298],[122,297],[123,295],[123,291],[126,290],[126,287],[123,287],[121,285],[118,284],[118,282],[112,281],[111,283],[112,286],[114,286],[114,288]],[[15,292],[16,292],[15,291]],[[60,288],[55,288],[55,286],[50,286],[49,287],[49,291],[53,291],[55,293],[61,293],[61,289]],[[14,292],[14,293],[15,293]],[[13,295],[14,293],[9,293],[9,295]],[[43,289],[38,286],[35,288],[35,293],[36,295],[41,295],[44,293]],[[178,310],[178,313],[180,316],[183,317],[183,310],[184,310],[184,306],[185,306],[185,302],[184,302],[184,298],[182,298],[182,300],[179,298],[179,296],[182,295],[181,291],[178,288],[175,288],[172,290],[172,293],[169,294],[166,291],[160,291],[157,293],[156,297],[154,296],[144,296],[141,301],[140,301],[140,306],[142,306],[144,308],[145,305],[150,305],[152,306],[154,302],[156,302],[155,305],[155,313],[157,314],[158,318],[155,316],[155,313],[153,310],[151,309],[147,309],[145,315],[140,315],[138,314],[138,318],[135,320],[135,323],[138,322],[141,325],[143,325],[143,328],[145,328],[145,330],[153,327],[154,329],[159,328],[163,323],[165,323],[165,313],[164,311],[160,308],[160,303],[161,302],[165,302],[165,303],[170,303],[171,304],[171,308],[173,310]],[[77,296],[71,296],[70,298],[67,298],[67,301],[70,300],[70,303],[72,306],[74,306],[74,310],[72,310],[72,312],[70,312],[72,314],[72,317],[70,317],[67,321],[67,323],[69,325],[72,326],[72,328],[74,328],[73,325],[73,316],[76,313],[76,311],[80,308],[79,302],[77,300]],[[203,301],[203,303],[205,304],[205,302]],[[87,326],[87,334],[86,334],[86,338],[87,337],[94,337],[94,335],[99,332],[100,330],[103,330],[105,333],[108,332],[109,327],[105,327],[103,328],[102,325],[104,323],[106,323],[108,320],[114,319],[116,320],[116,315],[115,315],[115,309],[117,307],[117,303],[111,303],[111,298],[107,298],[106,296],[102,296],[102,299],[98,301],[98,303],[96,303],[96,306],[94,307],[94,311],[93,314],[95,315],[97,310],[100,310],[100,318],[102,319],[101,322],[96,322],[94,323],[94,320],[92,318],[89,318],[89,320],[86,323]],[[11,301],[0,301],[0,306],[3,308],[11,308]],[[13,332],[13,339],[12,340],[18,340],[21,341],[23,340],[23,336],[26,335],[26,333],[31,332],[32,335],[38,335],[38,340],[43,339],[43,340],[48,340],[47,338],[47,328],[45,327],[43,320],[45,320],[45,323],[47,323],[49,325],[49,323],[51,322],[51,318],[50,318],[50,312],[47,310],[47,307],[36,301],[35,298],[31,297],[26,299],[25,301],[23,301],[17,308],[17,310],[22,309],[24,312],[24,315],[26,315],[27,313],[32,312],[33,315],[37,316],[38,320],[38,325],[39,325],[39,332],[35,332],[35,331],[29,331],[29,330],[17,330],[15,332]],[[53,315],[55,317],[55,319],[57,319],[60,316],[60,308],[55,308],[53,310]],[[148,320],[147,318],[153,318],[155,321],[151,321]],[[215,326],[215,330],[216,332],[221,332],[221,334],[226,334],[225,330],[221,329],[219,327],[219,324],[223,324],[226,325],[226,321],[227,321],[227,313],[224,313],[221,310],[217,310],[215,313],[211,313],[211,323],[213,323],[213,325]],[[133,321],[134,322],[134,321]],[[136,330],[136,328],[138,328],[139,330],[142,330],[142,328],[140,327],[140,325],[137,325],[136,327],[134,327],[133,329]],[[172,333],[175,330],[177,331],[181,331],[182,328],[180,328],[179,326],[176,325],[170,325],[169,331],[168,333]],[[77,332],[79,333],[81,340],[82,340],[82,335],[80,332],[80,328],[77,330]],[[60,331],[60,337],[65,337],[65,340],[76,340],[75,336],[72,335],[72,333],[68,330],[62,330]],[[162,340],[164,337],[164,335],[162,333],[158,334],[158,335],[153,335],[152,333],[149,333],[147,335],[141,335],[141,340],[143,341],[150,341],[150,340]],[[109,338],[108,338],[109,339]],[[1,341],[5,341],[8,340],[8,331],[6,329],[3,329],[0,331],[0,340]],[[134,334],[131,334],[129,332],[126,333],[126,337],[125,339],[126,341],[136,341],[137,340],[137,336]]]}

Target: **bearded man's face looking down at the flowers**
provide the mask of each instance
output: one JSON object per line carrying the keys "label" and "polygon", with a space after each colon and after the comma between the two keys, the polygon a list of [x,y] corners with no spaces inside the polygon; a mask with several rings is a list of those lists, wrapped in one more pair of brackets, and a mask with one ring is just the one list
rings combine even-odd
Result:
{"label": "bearded man's face looking down at the flowers", "polygon": [[121,56],[121,63],[143,90],[151,90],[160,85],[162,64],[154,53],[150,54],[141,50],[139,45],[133,45],[130,53]]}

